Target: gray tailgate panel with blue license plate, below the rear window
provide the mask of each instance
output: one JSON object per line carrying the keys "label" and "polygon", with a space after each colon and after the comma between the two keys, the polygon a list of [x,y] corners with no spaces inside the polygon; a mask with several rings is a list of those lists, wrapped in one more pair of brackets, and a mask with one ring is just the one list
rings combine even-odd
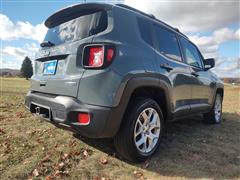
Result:
{"label": "gray tailgate panel with blue license plate, below the rear window", "polygon": [[[53,47],[47,53],[49,54],[47,57],[35,60],[31,90],[77,97],[78,86],[84,72],[81,67],[81,54],[62,54],[58,51]],[[50,71],[46,71],[47,69]]]}

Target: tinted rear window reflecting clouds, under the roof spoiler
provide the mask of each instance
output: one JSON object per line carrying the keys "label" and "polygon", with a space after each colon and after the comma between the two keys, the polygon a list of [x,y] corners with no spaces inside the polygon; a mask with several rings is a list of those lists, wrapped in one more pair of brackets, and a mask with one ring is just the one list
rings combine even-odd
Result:
{"label": "tinted rear window reflecting clouds, under the roof spoiler", "polygon": [[55,45],[73,42],[104,31],[107,24],[106,11],[83,15],[48,29],[44,41]]}

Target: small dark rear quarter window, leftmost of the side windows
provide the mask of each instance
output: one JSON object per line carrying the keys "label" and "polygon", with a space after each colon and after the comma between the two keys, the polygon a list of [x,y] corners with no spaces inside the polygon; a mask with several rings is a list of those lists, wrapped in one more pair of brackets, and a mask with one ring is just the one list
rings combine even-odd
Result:
{"label": "small dark rear quarter window, leftmost of the side windows", "polygon": [[139,27],[139,31],[140,31],[142,39],[146,43],[148,43],[150,46],[153,46],[150,22],[148,22],[142,18],[138,18],[138,27]]}

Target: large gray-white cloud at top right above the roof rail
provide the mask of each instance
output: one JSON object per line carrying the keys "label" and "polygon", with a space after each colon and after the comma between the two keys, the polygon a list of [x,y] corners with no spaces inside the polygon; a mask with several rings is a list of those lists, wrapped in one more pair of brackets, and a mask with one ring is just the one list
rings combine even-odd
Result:
{"label": "large gray-white cloud at top right above the roof rail", "polygon": [[146,1],[125,4],[151,13],[183,32],[212,31],[239,22],[238,1]]}

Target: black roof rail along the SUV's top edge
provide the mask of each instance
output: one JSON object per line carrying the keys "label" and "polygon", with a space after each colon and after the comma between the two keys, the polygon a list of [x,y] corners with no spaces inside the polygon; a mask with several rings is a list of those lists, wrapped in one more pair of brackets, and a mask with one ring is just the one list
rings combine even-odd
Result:
{"label": "black roof rail along the SUV's top edge", "polygon": [[133,8],[133,7],[131,7],[131,6],[128,6],[128,5],[126,5],[126,4],[116,4],[116,6],[120,6],[120,7],[129,9],[129,10],[131,10],[131,11],[137,12],[137,13],[139,13],[139,14],[142,14],[142,15],[144,15],[144,16],[147,16],[147,17],[149,17],[149,18],[152,18],[152,19],[160,22],[161,24],[167,26],[168,28],[170,28],[170,29],[178,32],[179,34],[181,34],[182,36],[184,36],[184,37],[186,37],[186,38],[188,39],[188,37],[187,37],[185,34],[183,34],[182,32],[180,32],[178,28],[174,28],[174,27],[170,26],[169,24],[167,24],[167,23],[165,23],[165,22],[157,19],[153,14],[144,13],[144,12],[142,12],[142,11],[140,11],[140,10],[138,10],[138,9],[135,9],[135,8]]}

